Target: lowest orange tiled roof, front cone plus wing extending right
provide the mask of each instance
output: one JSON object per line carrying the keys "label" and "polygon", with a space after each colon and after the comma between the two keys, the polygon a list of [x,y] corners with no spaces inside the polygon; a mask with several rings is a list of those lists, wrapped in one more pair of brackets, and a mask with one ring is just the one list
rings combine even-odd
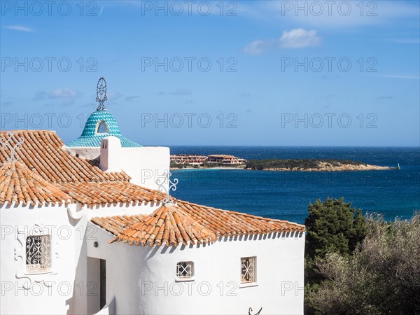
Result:
{"label": "lowest orange tiled roof, front cone plus wing extending right", "polygon": [[[176,221],[174,214],[179,221]],[[160,246],[164,241],[175,246],[188,241],[194,244],[196,240],[199,243],[209,242],[216,237],[231,235],[304,232],[304,225],[297,223],[215,209],[182,200],[176,200],[176,205],[171,207],[160,207],[148,216],[97,217],[92,218],[92,223],[116,235],[111,242],[119,240],[144,246]],[[184,236],[181,229],[193,232],[195,239],[191,238],[191,233]]]}

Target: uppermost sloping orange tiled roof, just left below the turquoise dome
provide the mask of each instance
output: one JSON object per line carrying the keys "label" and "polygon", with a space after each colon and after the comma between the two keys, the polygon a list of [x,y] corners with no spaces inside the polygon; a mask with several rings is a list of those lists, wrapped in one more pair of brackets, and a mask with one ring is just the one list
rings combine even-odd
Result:
{"label": "uppermost sloping orange tiled roof, just left below the turquoise dome", "polygon": [[[25,139],[22,149],[16,151],[18,160],[52,183],[128,181],[124,172],[105,173],[90,161],[77,158],[65,151],[63,142],[54,131],[17,130],[16,137]],[[0,137],[7,137],[0,131]],[[11,141],[13,146],[14,141]],[[0,147],[0,165],[6,162],[9,151]],[[93,164],[93,163],[92,163]]]}

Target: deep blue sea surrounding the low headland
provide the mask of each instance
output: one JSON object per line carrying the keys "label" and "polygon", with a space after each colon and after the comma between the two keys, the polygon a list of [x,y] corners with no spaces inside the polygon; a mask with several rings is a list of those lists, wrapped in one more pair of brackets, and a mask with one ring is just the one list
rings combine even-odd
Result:
{"label": "deep blue sea surrounding the low headland", "polygon": [[257,216],[304,223],[309,202],[344,197],[363,212],[386,220],[411,218],[420,209],[420,148],[172,146],[171,154],[231,154],[251,159],[346,159],[400,170],[362,172],[265,172],[244,169],[177,170],[174,197]]}

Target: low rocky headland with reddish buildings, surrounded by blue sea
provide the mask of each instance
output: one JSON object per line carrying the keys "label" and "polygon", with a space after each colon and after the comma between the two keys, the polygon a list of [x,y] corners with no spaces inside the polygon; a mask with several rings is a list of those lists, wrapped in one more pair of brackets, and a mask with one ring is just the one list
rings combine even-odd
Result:
{"label": "low rocky headland with reddish buildings, surrounded by blue sea", "polygon": [[258,171],[340,172],[395,169],[353,160],[244,160],[233,155],[171,155],[171,169],[252,169]]}

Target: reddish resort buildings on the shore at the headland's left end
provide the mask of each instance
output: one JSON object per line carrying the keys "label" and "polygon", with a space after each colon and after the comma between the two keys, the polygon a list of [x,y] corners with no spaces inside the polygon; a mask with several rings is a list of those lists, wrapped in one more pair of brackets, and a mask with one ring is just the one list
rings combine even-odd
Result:
{"label": "reddish resort buildings on the shore at the headland's left end", "polygon": [[177,165],[200,167],[208,165],[237,166],[245,165],[246,160],[237,158],[233,155],[213,154],[213,155],[194,155],[194,154],[176,154],[171,155],[171,162]]}

